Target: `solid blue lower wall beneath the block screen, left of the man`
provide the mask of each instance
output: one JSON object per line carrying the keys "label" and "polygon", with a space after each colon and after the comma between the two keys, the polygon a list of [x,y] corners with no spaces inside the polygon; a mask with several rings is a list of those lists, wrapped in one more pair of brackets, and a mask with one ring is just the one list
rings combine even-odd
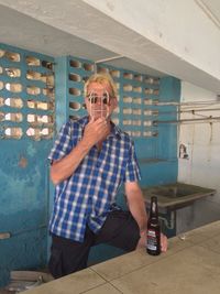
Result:
{"label": "solid blue lower wall beneath the block screen, left of the man", "polygon": [[[11,238],[0,240],[0,281],[10,270],[45,266],[48,181],[44,142],[1,142],[0,231]],[[26,166],[20,166],[21,159]]]}

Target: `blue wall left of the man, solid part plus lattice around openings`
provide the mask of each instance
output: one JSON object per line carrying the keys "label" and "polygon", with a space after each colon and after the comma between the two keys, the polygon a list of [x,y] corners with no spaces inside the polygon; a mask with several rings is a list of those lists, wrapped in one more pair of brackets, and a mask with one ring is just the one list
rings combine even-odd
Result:
{"label": "blue wall left of the man, solid part plus lattice around openings", "polygon": [[[31,124],[26,121],[28,113],[54,115],[54,110],[31,109],[28,100],[48,101],[51,98],[41,94],[37,96],[28,95],[28,86],[46,87],[40,80],[26,79],[26,72],[35,70],[44,74],[52,74],[51,69],[41,66],[28,66],[26,56],[34,56],[42,61],[53,62],[52,57],[37,53],[23,51],[0,44],[0,50],[20,54],[20,62],[12,62],[2,56],[0,66],[3,73],[0,80],[4,83],[19,83],[23,89],[20,92],[12,92],[6,89],[0,90],[0,98],[20,97],[23,101],[22,108],[0,106],[1,113],[22,113],[21,122],[0,121],[0,233],[10,232],[9,239],[0,239],[0,286],[9,281],[12,270],[28,270],[45,266],[48,222],[48,168],[47,154],[52,146],[50,138],[28,137],[25,131]],[[10,77],[6,68],[19,68],[20,77]],[[21,139],[6,138],[4,130],[8,127],[18,127],[23,131]],[[33,127],[33,126],[32,126]],[[46,127],[37,126],[38,129]],[[54,127],[52,126],[52,129]]]}

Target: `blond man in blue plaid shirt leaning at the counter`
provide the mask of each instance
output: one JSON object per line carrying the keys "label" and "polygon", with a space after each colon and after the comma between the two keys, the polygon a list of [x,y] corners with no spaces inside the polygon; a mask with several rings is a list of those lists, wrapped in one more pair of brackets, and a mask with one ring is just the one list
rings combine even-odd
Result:
{"label": "blond man in blue plaid shirt leaning at the counter", "polygon": [[[88,117],[64,124],[50,154],[56,185],[48,264],[54,277],[85,269],[94,244],[132,251],[146,243],[147,216],[134,145],[110,120],[118,106],[110,76],[96,74],[87,80],[85,105]],[[122,183],[130,211],[116,205]],[[162,236],[162,250],[166,247]]]}

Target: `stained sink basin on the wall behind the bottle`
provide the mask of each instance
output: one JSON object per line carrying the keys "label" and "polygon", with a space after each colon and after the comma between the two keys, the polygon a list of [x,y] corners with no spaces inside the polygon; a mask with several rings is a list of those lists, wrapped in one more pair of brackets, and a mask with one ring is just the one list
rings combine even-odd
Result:
{"label": "stained sink basin on the wall behind the bottle", "polygon": [[142,190],[146,203],[150,203],[152,196],[157,196],[158,206],[175,209],[216,193],[211,188],[183,183],[147,187]]}

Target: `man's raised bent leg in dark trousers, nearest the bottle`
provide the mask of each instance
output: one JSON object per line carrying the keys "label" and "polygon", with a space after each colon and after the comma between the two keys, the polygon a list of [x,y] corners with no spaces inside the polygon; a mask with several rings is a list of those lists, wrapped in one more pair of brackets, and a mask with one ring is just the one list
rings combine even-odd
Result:
{"label": "man's raised bent leg in dark trousers, nearest the bottle", "polygon": [[136,248],[140,229],[130,211],[114,210],[110,213],[100,232],[96,236],[96,244],[108,243],[125,251]]}

